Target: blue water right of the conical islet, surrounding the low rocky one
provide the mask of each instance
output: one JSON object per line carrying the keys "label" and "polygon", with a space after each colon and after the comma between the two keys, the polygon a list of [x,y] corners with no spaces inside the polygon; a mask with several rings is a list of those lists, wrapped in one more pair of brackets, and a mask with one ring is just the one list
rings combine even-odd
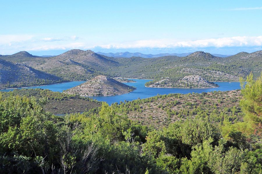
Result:
{"label": "blue water right of the conical islet, surrounding the low rocky one", "polygon": [[217,88],[148,88],[145,87],[145,83],[150,80],[141,80],[141,79],[130,79],[135,80],[136,82],[129,82],[125,83],[126,85],[134,86],[137,89],[133,92],[122,94],[122,95],[116,95],[116,96],[92,96],[90,98],[97,99],[98,101],[106,101],[109,105],[112,103],[119,103],[120,101],[132,101],[137,98],[148,98],[156,96],[157,94],[170,94],[170,93],[181,93],[181,94],[187,94],[187,93],[202,93],[202,92],[211,92],[211,91],[229,91],[234,89],[240,89],[240,82],[215,82],[219,85]]}

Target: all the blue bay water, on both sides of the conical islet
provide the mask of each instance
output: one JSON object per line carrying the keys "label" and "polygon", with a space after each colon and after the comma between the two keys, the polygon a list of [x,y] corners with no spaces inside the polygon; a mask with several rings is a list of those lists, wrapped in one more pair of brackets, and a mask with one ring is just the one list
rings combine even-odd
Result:
{"label": "all the blue bay water, on both sides of the conical islet", "polygon": [[[187,93],[202,93],[202,92],[211,92],[211,91],[229,91],[234,89],[240,89],[240,83],[239,82],[215,82],[219,85],[218,88],[201,88],[201,89],[190,89],[190,88],[148,88],[145,87],[145,83],[150,80],[141,80],[141,79],[130,79],[135,80],[136,82],[129,82],[125,83],[130,86],[134,86],[137,89],[133,92],[122,94],[122,95],[116,95],[116,96],[91,96],[90,98],[97,99],[98,101],[106,101],[109,105],[112,103],[119,103],[120,101],[132,101],[137,98],[148,98],[156,96],[157,94],[169,94],[169,93],[181,93],[181,94],[187,94]],[[54,84],[54,85],[46,85],[46,86],[36,86],[36,87],[25,87],[25,88],[16,88],[16,89],[35,89],[35,88],[42,88],[42,89],[49,89],[51,91],[56,92],[63,92],[63,90],[75,87],[77,85],[80,85],[81,83],[84,83],[86,81],[73,81],[73,82],[67,82],[67,83],[60,83],[60,84]],[[0,91],[13,91],[14,89],[3,89]]]}

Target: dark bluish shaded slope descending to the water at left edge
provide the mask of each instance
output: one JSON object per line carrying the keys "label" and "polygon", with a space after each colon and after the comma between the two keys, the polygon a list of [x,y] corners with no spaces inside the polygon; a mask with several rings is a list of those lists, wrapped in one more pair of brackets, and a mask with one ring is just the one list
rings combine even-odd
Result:
{"label": "dark bluish shaded slope descending to the water at left edge", "polygon": [[46,85],[63,82],[61,78],[22,63],[0,59],[0,88]]}

